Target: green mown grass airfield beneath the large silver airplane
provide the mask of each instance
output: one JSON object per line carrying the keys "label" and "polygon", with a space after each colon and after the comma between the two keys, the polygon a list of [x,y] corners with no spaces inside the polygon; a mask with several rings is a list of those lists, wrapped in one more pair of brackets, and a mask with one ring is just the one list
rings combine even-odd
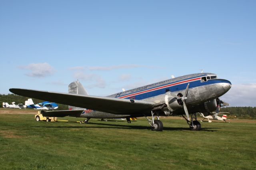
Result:
{"label": "green mown grass airfield beneath the large silver airplane", "polygon": [[255,120],[201,122],[190,131],[168,117],[154,132],[145,118],[36,122],[36,111],[9,110],[0,109],[0,169],[256,169]]}

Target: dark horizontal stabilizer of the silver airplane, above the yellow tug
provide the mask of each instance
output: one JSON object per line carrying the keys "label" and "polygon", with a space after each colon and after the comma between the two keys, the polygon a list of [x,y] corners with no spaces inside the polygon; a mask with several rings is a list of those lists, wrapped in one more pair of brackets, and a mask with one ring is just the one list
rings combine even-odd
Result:
{"label": "dark horizontal stabilizer of the silver airplane, above the yellow tug", "polygon": [[42,115],[44,117],[66,117],[66,116],[72,116],[72,117],[80,117],[81,113],[83,113],[83,110],[76,110],[76,111],[43,111]]}

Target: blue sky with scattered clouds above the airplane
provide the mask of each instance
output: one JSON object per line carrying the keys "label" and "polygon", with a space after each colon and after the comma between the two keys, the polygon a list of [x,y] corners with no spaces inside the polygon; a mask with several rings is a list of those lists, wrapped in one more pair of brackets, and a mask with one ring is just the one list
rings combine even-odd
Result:
{"label": "blue sky with scattered clouds above the airplane", "polygon": [[191,73],[216,73],[221,99],[256,107],[255,0],[0,0],[0,94],[106,96]]}

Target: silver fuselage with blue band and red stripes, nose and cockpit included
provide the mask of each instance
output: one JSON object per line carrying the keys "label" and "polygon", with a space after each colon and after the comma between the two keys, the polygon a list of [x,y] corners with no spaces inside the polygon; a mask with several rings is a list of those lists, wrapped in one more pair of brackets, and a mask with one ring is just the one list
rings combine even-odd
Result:
{"label": "silver fuselage with blue band and red stripes, nose and cockpit included", "polygon": [[[158,83],[153,83],[128,91],[122,91],[108,97],[153,101],[156,103],[154,108],[160,108],[158,110],[156,109],[158,115],[183,115],[184,109],[182,108],[182,104],[180,104],[176,99],[166,99],[166,97],[169,97],[167,96],[167,93],[184,95],[188,84],[189,88],[186,106],[188,107],[188,111],[190,113],[214,111],[216,109],[216,98],[224,95],[231,88],[230,81],[218,79],[216,74],[196,73],[160,81]],[[151,111],[149,110],[145,113],[138,113],[136,117],[150,114]],[[125,118],[130,117],[130,115],[114,115],[100,111],[85,110],[81,115],[76,115],[76,117],[110,119]]]}

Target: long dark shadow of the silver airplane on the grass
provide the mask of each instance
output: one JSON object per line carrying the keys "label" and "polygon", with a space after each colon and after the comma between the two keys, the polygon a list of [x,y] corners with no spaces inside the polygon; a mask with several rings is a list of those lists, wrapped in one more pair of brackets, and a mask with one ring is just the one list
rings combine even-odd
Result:
{"label": "long dark shadow of the silver airplane on the grass", "polygon": [[[137,125],[113,125],[113,124],[107,124],[107,123],[88,123],[86,124],[88,126],[52,126],[52,127],[44,127],[44,126],[40,126],[40,128],[117,128],[117,129],[148,129],[151,130],[150,126],[137,126]],[[100,127],[91,127],[89,125],[101,125]],[[33,126],[35,127],[35,126]],[[36,126],[38,127],[38,126]],[[209,131],[209,132],[214,132],[217,130],[214,129],[218,129],[218,128],[202,128],[201,131]],[[183,130],[190,130],[190,128],[183,128],[183,127],[164,127],[163,130],[179,130],[179,131],[183,131]]]}

